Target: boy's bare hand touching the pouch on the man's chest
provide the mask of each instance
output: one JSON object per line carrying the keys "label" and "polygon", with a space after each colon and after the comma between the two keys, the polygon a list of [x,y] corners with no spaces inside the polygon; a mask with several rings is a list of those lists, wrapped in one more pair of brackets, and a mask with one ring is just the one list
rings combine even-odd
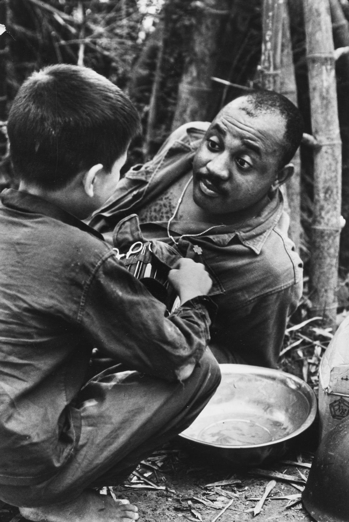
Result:
{"label": "boy's bare hand touching the pouch on the man's chest", "polygon": [[212,287],[212,279],[202,263],[182,258],[178,268],[169,271],[168,279],[177,290],[181,304],[197,295],[207,295]]}

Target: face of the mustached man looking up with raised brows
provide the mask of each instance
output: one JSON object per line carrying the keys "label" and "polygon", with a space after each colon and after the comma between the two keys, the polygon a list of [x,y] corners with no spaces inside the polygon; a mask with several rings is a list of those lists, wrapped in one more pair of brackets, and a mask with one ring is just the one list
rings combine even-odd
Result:
{"label": "face of the mustached man looking up with raised brows", "polygon": [[277,113],[251,114],[253,108],[245,98],[229,103],[195,154],[193,199],[208,213],[246,209],[277,186],[284,119]]}

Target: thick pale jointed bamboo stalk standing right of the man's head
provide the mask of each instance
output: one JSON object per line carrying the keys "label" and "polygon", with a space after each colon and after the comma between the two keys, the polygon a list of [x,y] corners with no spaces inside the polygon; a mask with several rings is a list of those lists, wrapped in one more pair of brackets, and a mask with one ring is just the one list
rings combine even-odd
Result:
{"label": "thick pale jointed bamboo stalk standing right of the man's head", "polygon": [[310,283],[312,312],[335,326],[341,214],[342,143],[329,0],[303,0],[314,150]]}

